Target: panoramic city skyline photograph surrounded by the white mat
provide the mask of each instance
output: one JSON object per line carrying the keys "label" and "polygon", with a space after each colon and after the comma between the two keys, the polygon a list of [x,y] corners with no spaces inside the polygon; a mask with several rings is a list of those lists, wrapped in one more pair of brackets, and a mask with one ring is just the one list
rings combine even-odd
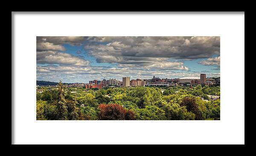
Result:
{"label": "panoramic city skyline photograph surrounded by the white mat", "polygon": [[36,120],[221,120],[220,36],[36,36]]}

